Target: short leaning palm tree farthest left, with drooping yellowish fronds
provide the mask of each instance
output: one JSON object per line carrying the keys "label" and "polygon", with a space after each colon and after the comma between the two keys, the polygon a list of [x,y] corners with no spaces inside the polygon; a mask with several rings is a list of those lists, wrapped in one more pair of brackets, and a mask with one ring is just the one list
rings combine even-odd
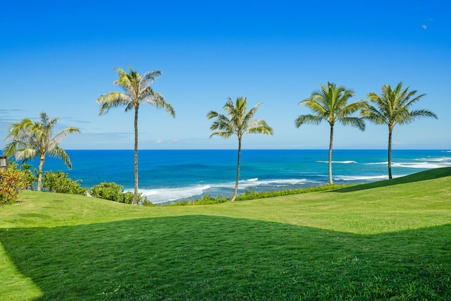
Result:
{"label": "short leaning palm tree farthest left, with drooping yellowish fronds", "polygon": [[52,131],[56,125],[58,118],[50,119],[47,113],[39,114],[39,121],[32,121],[30,118],[24,118],[18,123],[13,123],[9,130],[9,135],[5,140],[11,142],[4,148],[7,156],[16,157],[16,160],[35,159],[39,156],[39,171],[37,175],[37,191],[42,189],[42,168],[44,167],[45,156],[63,159],[68,168],[72,168],[72,163],[66,151],[59,146],[59,142],[67,135],[72,133],[80,133],[78,128],[65,128],[53,137]]}

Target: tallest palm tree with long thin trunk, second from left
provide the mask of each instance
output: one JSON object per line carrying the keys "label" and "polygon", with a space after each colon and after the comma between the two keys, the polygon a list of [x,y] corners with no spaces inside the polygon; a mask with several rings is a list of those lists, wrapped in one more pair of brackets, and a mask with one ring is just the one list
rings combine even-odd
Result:
{"label": "tallest palm tree with long thin trunk, second from left", "polygon": [[156,78],[161,75],[160,70],[144,73],[141,75],[132,69],[126,73],[122,68],[114,68],[118,71],[118,80],[113,82],[114,85],[121,87],[124,92],[109,92],[101,95],[96,102],[101,104],[99,115],[108,113],[111,108],[125,106],[125,111],[135,109],[135,191],[132,204],[138,204],[138,109],[140,104],[147,103],[155,106],[157,109],[165,109],[175,118],[175,111],[171,104],[168,104],[163,95],[155,93],[150,86]]}

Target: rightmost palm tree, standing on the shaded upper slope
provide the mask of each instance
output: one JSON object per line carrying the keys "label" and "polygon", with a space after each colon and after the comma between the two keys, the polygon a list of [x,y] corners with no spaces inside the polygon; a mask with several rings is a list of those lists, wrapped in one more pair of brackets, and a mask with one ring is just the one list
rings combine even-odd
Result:
{"label": "rightmost palm tree, standing on the shaded upper slope", "polygon": [[435,113],[425,110],[413,110],[410,108],[426,94],[415,97],[416,90],[409,92],[409,87],[402,90],[402,82],[399,82],[395,89],[390,85],[383,85],[381,95],[375,92],[368,93],[369,102],[376,106],[368,106],[361,113],[361,116],[376,124],[388,125],[388,178],[392,178],[392,134],[395,125],[409,124],[420,117],[437,118]]}

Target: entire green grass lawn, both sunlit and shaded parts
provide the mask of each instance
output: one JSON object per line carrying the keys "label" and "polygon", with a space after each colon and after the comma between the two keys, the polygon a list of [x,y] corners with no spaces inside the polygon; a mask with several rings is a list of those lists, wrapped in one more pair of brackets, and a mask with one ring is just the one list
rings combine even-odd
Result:
{"label": "entire green grass lawn, both sunlit and shaded parts", "polygon": [[202,206],[19,199],[0,300],[451,300],[451,168]]}

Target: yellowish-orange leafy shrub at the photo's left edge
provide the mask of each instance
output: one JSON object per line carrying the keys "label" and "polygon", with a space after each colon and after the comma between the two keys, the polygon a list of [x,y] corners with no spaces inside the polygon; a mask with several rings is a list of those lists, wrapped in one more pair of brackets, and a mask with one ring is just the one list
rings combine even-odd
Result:
{"label": "yellowish-orange leafy shrub at the photo's left edge", "polygon": [[31,187],[29,171],[21,171],[16,162],[11,161],[8,170],[0,172],[0,204],[16,202],[19,192]]}

